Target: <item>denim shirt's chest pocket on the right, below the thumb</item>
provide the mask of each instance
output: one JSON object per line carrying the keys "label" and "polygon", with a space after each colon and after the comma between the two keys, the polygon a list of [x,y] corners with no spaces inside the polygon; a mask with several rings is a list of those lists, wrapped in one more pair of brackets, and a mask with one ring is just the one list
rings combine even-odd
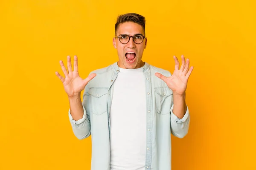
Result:
{"label": "denim shirt's chest pocket on the right, below the thumb", "polygon": [[173,92],[167,88],[154,88],[156,96],[156,110],[159,114],[170,113]]}

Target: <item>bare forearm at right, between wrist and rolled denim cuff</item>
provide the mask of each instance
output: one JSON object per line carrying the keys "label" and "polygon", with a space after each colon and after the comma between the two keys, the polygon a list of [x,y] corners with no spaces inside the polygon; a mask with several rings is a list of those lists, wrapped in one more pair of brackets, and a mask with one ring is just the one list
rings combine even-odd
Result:
{"label": "bare forearm at right, between wrist and rolled denim cuff", "polygon": [[173,94],[173,113],[179,118],[182,119],[186,113],[186,94],[178,95]]}

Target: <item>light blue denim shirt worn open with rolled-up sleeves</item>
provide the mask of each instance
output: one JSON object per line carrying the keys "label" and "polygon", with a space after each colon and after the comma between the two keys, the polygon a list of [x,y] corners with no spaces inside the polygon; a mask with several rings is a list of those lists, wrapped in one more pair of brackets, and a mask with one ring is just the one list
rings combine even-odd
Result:
{"label": "light blue denim shirt worn open with rolled-up sleeves", "polygon": [[[117,62],[91,72],[90,74],[96,73],[97,76],[84,89],[83,117],[75,121],[69,111],[69,119],[75,136],[78,139],[85,139],[92,135],[91,170],[110,170],[111,123],[109,113],[113,82],[119,72]],[[182,119],[175,116],[172,112],[173,92],[163,80],[154,75],[157,72],[166,77],[171,76],[169,71],[145,62],[143,66],[147,108],[145,170],[171,170],[171,133],[178,138],[183,138],[189,130],[190,116],[188,107]]]}

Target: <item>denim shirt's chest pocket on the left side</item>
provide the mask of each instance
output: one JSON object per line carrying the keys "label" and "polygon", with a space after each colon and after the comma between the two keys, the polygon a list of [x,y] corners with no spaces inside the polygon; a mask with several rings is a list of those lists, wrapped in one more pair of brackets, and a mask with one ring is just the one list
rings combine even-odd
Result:
{"label": "denim shirt's chest pocket on the left side", "polygon": [[90,95],[90,109],[93,114],[100,115],[107,111],[108,106],[108,89],[107,88],[91,88]]}

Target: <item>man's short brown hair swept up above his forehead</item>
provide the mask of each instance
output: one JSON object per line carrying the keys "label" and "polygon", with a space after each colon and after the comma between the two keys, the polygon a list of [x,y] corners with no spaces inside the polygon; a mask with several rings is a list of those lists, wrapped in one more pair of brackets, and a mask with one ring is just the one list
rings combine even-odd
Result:
{"label": "man's short brown hair swept up above his forehead", "polygon": [[145,17],[143,17],[140,14],[136,14],[136,13],[127,13],[127,14],[119,15],[117,17],[116,24],[115,24],[115,35],[116,35],[116,31],[119,27],[119,24],[122,24],[125,22],[134,22],[134,23],[139,24],[140,26],[142,26],[144,34],[145,34],[145,24],[146,24]]}

